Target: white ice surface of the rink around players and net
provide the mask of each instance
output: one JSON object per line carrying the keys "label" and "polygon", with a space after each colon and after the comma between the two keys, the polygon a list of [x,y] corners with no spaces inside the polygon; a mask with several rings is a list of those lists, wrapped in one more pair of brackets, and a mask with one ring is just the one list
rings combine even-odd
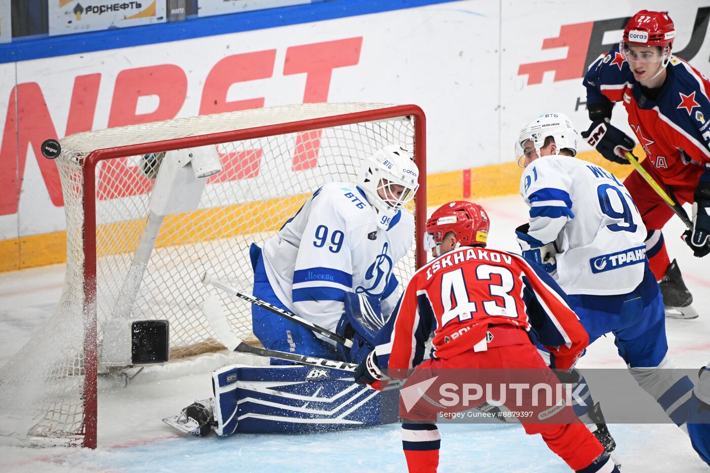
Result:
{"label": "white ice surface of the rink around players and net", "polygon": [[[491,247],[518,250],[513,229],[525,222],[518,196],[480,201],[491,216]],[[430,209],[432,211],[433,209]],[[667,320],[670,355],[684,368],[710,361],[710,257],[692,256],[673,218],[664,230],[694,294],[700,317]],[[51,314],[59,301],[63,265],[0,274],[0,365],[4,365]],[[624,367],[611,338],[591,345],[580,367]],[[183,436],[160,419],[179,413],[192,399],[211,394],[210,373],[99,393],[99,447],[28,448],[0,445],[3,472],[402,472],[406,471],[398,425],[312,435]],[[1,400],[0,400],[1,408]],[[439,426],[442,472],[568,472],[539,436],[517,425]],[[706,472],[687,435],[674,425],[618,425],[624,472]],[[5,439],[0,439],[4,443]]]}

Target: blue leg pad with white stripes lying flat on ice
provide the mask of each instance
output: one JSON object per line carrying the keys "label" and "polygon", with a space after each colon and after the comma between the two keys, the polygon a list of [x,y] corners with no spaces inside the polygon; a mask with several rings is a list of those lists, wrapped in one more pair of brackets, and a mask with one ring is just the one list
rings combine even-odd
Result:
{"label": "blue leg pad with white stripes lying flat on ice", "polygon": [[319,432],[398,420],[398,390],[360,386],[340,369],[231,365],[215,371],[212,382],[218,435]]}

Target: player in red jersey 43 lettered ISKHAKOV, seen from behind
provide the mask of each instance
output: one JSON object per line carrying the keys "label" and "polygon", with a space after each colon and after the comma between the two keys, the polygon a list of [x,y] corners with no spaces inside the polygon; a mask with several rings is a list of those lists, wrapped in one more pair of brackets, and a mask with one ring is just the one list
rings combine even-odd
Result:
{"label": "player in red jersey 43 lettered ISKHAKOV, seen from behind", "polygon": [[[514,401],[515,396],[503,395],[508,388],[498,383],[521,386],[533,377],[534,384],[526,386],[559,386],[531,338],[539,336],[557,368],[569,369],[581,355],[589,339],[562,289],[523,257],[487,249],[488,216],[477,204],[445,204],[427,221],[426,232],[425,245],[435,259],[412,277],[378,333],[375,350],[355,373],[356,382],[375,389],[390,377],[408,377],[400,391],[400,418],[409,471],[437,471],[437,413],[465,411],[491,401],[515,413],[526,433],[540,433],[574,471],[618,472],[571,407],[558,399],[552,408],[535,410],[530,407],[536,406],[532,398],[522,394],[522,401]],[[422,362],[432,332],[432,354]],[[471,406],[447,402],[455,394],[445,389],[464,386],[465,400],[471,382],[479,383],[476,386],[486,382],[486,396]],[[432,385],[439,386],[439,396],[442,392],[446,396],[432,394],[436,391]],[[488,386],[501,387],[489,394]],[[414,400],[413,392],[420,393]],[[530,416],[524,415],[526,408],[532,409]]]}

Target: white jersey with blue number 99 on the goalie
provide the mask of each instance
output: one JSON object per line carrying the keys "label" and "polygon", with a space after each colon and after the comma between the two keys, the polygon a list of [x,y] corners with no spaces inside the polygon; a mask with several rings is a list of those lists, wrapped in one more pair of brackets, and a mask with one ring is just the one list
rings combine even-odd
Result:
{"label": "white jersey with blue number 99 on the goalie", "polygon": [[414,218],[408,211],[395,214],[383,230],[359,187],[331,182],[264,244],[264,267],[285,306],[335,330],[349,291],[380,299],[383,316],[390,315],[398,299],[393,268],[413,238]]}

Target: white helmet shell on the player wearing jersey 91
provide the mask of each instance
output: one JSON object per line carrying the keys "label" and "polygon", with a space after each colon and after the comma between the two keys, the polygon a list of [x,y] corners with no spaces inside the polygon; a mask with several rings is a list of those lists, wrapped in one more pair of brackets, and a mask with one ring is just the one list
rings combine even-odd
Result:
{"label": "white helmet shell on the player wearing jersey 91", "polygon": [[540,156],[540,148],[545,147],[545,138],[552,136],[555,139],[557,150],[555,154],[563,149],[571,150],[572,156],[577,154],[577,140],[579,133],[572,125],[564,113],[542,113],[535,120],[528,123],[518,135],[518,140],[515,140],[515,159],[518,160],[518,165],[525,159],[525,142],[530,140],[532,147],[535,148],[537,156]]}

